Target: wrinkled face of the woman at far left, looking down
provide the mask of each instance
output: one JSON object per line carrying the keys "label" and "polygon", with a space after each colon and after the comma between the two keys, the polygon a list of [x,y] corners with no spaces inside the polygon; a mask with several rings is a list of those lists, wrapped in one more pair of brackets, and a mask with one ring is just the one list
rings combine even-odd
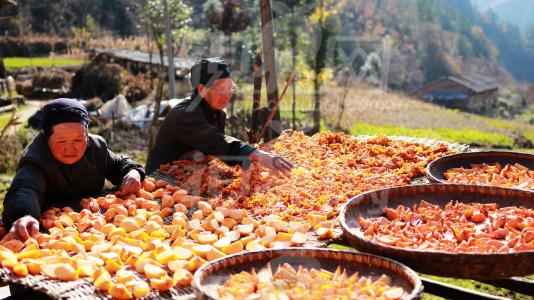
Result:
{"label": "wrinkled face of the woman at far left, looking down", "polygon": [[87,131],[80,123],[54,125],[48,147],[58,161],[71,165],[79,161],[87,148]]}

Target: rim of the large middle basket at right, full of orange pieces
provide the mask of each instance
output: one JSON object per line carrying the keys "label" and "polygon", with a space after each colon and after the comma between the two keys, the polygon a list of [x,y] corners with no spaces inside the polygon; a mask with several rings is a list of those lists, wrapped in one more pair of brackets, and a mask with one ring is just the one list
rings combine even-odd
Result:
{"label": "rim of the large middle basket at right, full of orange pieces", "polygon": [[[502,192],[518,192],[518,193],[525,193],[525,194],[531,194],[534,196],[534,191],[529,190],[520,190],[520,189],[512,189],[512,188],[503,188],[503,187],[496,187],[496,186],[484,186],[484,185],[475,185],[475,184],[443,184],[443,183],[433,183],[433,184],[422,184],[422,185],[409,185],[409,186],[401,186],[401,187],[393,187],[393,188],[385,188],[380,190],[373,190],[373,191],[367,191],[364,193],[361,193],[353,198],[351,198],[349,201],[347,201],[341,208],[339,212],[339,222],[341,224],[341,228],[343,229],[344,234],[350,234],[353,238],[356,238],[364,243],[373,245],[375,248],[385,248],[390,250],[395,250],[398,252],[402,252],[405,254],[421,254],[421,255],[440,255],[440,256],[448,256],[448,257],[459,257],[459,256],[466,256],[466,257],[511,257],[511,256],[518,256],[518,255],[534,255],[534,250],[528,250],[528,251],[518,251],[513,253],[482,253],[482,252],[452,252],[452,251],[438,251],[438,250],[419,250],[419,249],[407,249],[397,246],[389,246],[389,245],[383,245],[374,241],[367,240],[362,237],[362,231],[360,229],[351,227],[347,223],[347,212],[348,208],[350,206],[358,206],[358,202],[361,202],[365,200],[367,197],[373,194],[378,193],[384,193],[389,191],[402,191],[402,190],[414,190],[417,192],[422,192],[427,189],[430,189],[432,187],[444,187],[445,190],[449,189],[463,189],[463,192],[465,192],[466,189],[483,189],[483,190],[501,190]],[[451,199],[452,200],[452,199]],[[432,203],[431,200],[425,200],[427,202]]]}

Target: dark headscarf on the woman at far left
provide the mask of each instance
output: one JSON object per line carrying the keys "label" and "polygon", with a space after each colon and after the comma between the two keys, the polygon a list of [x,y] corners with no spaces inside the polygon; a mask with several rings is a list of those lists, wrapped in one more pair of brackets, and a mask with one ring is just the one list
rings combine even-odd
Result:
{"label": "dark headscarf on the woman at far left", "polygon": [[52,134],[54,125],[68,122],[80,123],[85,128],[89,126],[87,109],[78,100],[59,98],[44,106],[41,128],[47,138]]}

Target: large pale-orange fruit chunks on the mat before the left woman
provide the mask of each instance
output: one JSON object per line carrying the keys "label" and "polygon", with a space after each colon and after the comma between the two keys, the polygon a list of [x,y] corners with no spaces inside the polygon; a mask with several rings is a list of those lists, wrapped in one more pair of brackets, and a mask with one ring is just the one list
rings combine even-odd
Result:
{"label": "large pale-orange fruit chunks on the mat before the left woman", "polygon": [[48,233],[24,243],[6,235],[0,263],[17,276],[90,278],[96,289],[130,299],[189,286],[204,263],[228,254],[301,246],[310,230],[332,236],[334,222],[324,216],[312,214],[308,222],[254,218],[205,200],[147,178],[136,195],[82,199],[80,212],[47,210],[42,224]]}

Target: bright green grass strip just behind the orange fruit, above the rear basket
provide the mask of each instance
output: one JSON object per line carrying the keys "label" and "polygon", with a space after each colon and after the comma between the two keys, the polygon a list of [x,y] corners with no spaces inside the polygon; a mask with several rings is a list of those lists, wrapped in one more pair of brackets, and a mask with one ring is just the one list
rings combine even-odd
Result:
{"label": "bright green grass strip just behind the orange fruit, above the rear basket", "polygon": [[482,132],[475,129],[407,128],[394,125],[378,126],[357,123],[352,127],[351,134],[410,136],[490,148],[511,148],[514,145],[514,140],[505,134]]}

